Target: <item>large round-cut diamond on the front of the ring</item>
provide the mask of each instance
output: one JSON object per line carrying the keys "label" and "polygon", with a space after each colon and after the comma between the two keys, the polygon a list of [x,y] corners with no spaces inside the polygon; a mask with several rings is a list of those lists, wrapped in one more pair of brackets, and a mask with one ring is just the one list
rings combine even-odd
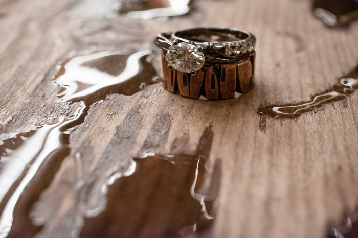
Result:
{"label": "large round-cut diamond on the front of the ring", "polygon": [[205,61],[198,46],[185,42],[170,46],[166,58],[170,66],[186,73],[199,70]]}

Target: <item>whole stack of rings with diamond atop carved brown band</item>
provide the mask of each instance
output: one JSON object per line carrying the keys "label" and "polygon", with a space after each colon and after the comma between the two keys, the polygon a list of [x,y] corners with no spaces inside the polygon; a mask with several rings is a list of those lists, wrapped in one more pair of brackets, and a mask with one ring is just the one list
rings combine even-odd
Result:
{"label": "whole stack of rings with diamond atop carved brown band", "polygon": [[162,80],[189,98],[227,99],[253,86],[254,35],[231,28],[196,28],[155,36]]}

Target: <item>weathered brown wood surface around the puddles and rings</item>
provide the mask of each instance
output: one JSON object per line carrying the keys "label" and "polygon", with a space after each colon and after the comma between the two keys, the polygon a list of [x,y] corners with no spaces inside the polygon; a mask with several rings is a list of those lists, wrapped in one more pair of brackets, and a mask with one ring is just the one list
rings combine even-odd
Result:
{"label": "weathered brown wood surface around the puddles and rings", "polygon": [[[198,25],[249,30],[258,39],[255,87],[238,99],[198,101],[158,83],[92,103],[72,129],[69,155],[29,209],[28,220],[43,225],[38,237],[79,235],[86,211],[106,202],[101,189],[115,166],[140,152],[195,151],[210,124],[208,178],[221,161],[212,236],[324,237],[328,225],[354,213],[358,95],[295,120],[255,111],[308,101],[350,72],[358,60],[356,23],[326,28],[308,1],[201,1],[193,14],[165,21],[107,18],[113,9],[101,4],[0,1],[1,140],[74,113],[78,103],[60,101],[52,82],[61,61],[102,50],[154,49],[158,32]],[[206,179],[204,188],[210,183]]]}

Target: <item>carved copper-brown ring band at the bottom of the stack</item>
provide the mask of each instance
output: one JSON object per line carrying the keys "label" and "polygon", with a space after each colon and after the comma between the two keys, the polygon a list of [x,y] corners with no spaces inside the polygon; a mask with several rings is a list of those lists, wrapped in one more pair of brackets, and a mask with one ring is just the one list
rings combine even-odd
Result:
{"label": "carved copper-brown ring band at the bottom of the stack", "polygon": [[204,64],[196,75],[168,68],[166,55],[162,51],[161,78],[169,91],[198,99],[229,99],[235,92],[245,93],[254,84],[255,51],[249,57],[229,64]]}

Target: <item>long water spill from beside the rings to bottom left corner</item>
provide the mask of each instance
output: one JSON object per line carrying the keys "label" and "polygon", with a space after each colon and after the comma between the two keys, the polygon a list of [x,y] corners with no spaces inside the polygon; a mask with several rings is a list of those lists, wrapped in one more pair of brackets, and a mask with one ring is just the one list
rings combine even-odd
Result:
{"label": "long water spill from beside the rings to bottom left corner", "polygon": [[[106,51],[76,56],[59,66],[54,77],[62,87],[58,97],[78,102],[78,107],[70,117],[59,118],[53,125],[42,125],[0,145],[0,186],[4,188],[0,194],[0,237],[32,237],[41,230],[32,224],[29,213],[70,153],[66,130],[82,123],[89,106],[108,94],[132,95],[143,85],[155,83],[155,70],[146,61],[151,53]],[[25,190],[27,193],[23,193]]]}

